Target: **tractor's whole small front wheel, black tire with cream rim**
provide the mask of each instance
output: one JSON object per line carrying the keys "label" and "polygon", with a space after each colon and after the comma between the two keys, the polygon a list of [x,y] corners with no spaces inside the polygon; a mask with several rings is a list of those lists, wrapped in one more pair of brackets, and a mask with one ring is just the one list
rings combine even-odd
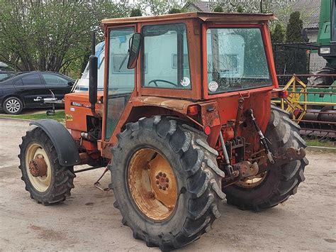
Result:
{"label": "tractor's whole small front wheel, black tire with cream rim", "polygon": [[21,179],[32,199],[42,204],[55,204],[70,196],[76,177],[73,167],[58,163],[55,147],[42,128],[27,131],[18,157]]}

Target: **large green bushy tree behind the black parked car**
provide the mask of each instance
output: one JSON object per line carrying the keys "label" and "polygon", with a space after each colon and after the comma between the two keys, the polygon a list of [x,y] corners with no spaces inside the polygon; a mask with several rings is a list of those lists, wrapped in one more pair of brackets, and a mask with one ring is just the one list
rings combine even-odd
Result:
{"label": "large green bushy tree behind the black parked car", "polygon": [[103,18],[126,16],[108,0],[0,0],[0,61],[16,70],[80,68],[91,32],[103,38]]}

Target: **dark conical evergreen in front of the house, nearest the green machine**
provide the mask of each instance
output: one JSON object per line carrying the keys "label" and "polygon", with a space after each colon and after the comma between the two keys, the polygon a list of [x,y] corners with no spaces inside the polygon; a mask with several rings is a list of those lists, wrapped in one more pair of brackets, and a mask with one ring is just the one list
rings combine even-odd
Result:
{"label": "dark conical evergreen in front of the house, nearest the green machine", "polygon": [[300,18],[300,12],[295,11],[289,17],[289,23],[286,31],[286,43],[303,42],[302,31],[303,21]]}

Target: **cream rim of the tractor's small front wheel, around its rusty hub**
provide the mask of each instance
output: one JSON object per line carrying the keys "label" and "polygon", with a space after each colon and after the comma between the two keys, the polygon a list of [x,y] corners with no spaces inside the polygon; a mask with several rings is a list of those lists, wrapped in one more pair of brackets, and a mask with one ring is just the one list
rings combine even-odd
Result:
{"label": "cream rim of the tractor's small front wheel, around its rusty hub", "polygon": [[[31,175],[29,170],[29,163],[35,158],[43,158],[45,160],[47,165],[47,174],[45,176],[33,177],[33,175]],[[48,189],[52,180],[50,160],[43,147],[38,143],[31,143],[26,148],[26,172],[28,174],[31,185],[33,185],[35,190],[38,190],[38,192],[45,192]]]}

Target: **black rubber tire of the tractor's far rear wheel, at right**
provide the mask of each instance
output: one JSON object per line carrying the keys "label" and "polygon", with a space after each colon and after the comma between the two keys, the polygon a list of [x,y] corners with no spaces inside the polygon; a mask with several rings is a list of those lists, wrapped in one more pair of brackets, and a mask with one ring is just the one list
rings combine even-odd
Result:
{"label": "black rubber tire of the tractor's far rear wheel, at right", "polygon": [[[281,148],[306,148],[306,142],[298,134],[300,126],[289,119],[289,114],[271,105],[271,117],[265,132],[271,152],[277,155]],[[296,193],[298,185],[305,180],[303,175],[308,160],[293,160],[281,167],[272,165],[260,185],[252,188],[231,185],[224,188],[228,204],[242,210],[260,211],[286,201]]]}

